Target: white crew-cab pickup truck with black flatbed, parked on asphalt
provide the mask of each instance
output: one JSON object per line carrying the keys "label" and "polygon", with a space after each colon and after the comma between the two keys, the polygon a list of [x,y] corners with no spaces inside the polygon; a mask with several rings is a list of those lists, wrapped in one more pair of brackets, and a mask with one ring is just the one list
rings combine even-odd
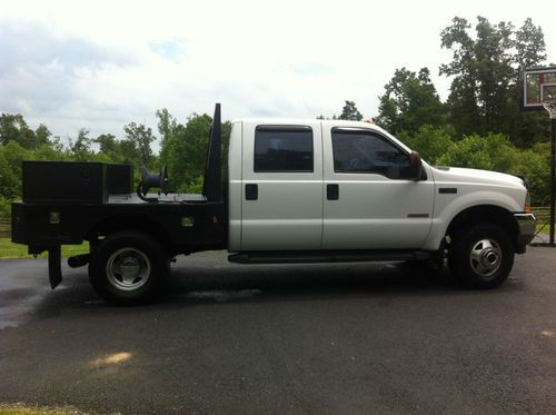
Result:
{"label": "white crew-cab pickup truck with black flatbed, parked on asphalt", "polygon": [[96,165],[30,162],[36,180],[27,200],[24,191],[23,201],[12,205],[12,239],[32,254],[49,251],[52,287],[61,280],[60,245],[89,240],[90,253],[69,258],[69,265],[89,264],[96,290],[118,304],[150,300],[169,258],[215,248],[228,249],[229,259],[242,264],[441,265],[447,257],[464,286],[492,288],[508,277],[514,254],[525,253],[535,233],[524,179],[429,166],[366,122],[234,121],[222,186],[217,105],[202,195],[147,195],[150,186],[165,188],[163,171],[143,171],[137,195],[130,187],[110,190],[121,177],[101,166],[99,184],[75,184],[83,190],[72,189],[79,196],[49,196],[48,180],[56,175],[44,169],[68,177],[69,168]]}

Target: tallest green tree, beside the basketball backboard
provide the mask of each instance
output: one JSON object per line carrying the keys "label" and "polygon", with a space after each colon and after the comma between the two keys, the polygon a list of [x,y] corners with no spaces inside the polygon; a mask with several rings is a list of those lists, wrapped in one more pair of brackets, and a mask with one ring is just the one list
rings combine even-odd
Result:
{"label": "tallest green tree, beside the basketball backboard", "polygon": [[546,57],[540,28],[530,19],[516,30],[483,17],[477,18],[475,37],[470,28],[456,17],[440,34],[441,47],[453,51],[451,62],[440,66],[440,75],[451,77],[449,122],[460,137],[502,132],[518,145],[542,139],[545,128],[530,128],[532,117],[519,113],[517,95],[519,66],[538,65]]}

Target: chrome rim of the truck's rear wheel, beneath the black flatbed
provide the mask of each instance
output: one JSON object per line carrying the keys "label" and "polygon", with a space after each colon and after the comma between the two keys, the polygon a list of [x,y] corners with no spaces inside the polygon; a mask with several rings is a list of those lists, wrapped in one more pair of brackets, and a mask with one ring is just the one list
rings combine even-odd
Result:
{"label": "chrome rim of the truck's rear wheel, beneath the black flatbed", "polygon": [[106,263],[108,281],[123,292],[142,287],[150,277],[150,260],[136,248],[121,248],[115,251]]}

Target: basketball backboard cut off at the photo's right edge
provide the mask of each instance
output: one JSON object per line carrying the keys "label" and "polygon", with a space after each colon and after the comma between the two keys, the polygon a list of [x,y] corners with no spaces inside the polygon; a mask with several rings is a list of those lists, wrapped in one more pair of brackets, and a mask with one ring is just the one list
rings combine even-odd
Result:
{"label": "basketball backboard cut off at the photo's right edge", "polygon": [[556,101],[556,67],[527,68],[522,71],[520,105],[524,111],[542,110],[543,102]]}

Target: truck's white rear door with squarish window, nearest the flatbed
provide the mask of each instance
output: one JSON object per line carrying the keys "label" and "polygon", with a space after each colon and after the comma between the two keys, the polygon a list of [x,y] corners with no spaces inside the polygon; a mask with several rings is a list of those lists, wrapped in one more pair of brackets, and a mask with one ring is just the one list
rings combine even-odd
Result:
{"label": "truck's white rear door with squarish window, nearest the flatbed", "polygon": [[245,122],[241,170],[241,250],[319,249],[320,122]]}

